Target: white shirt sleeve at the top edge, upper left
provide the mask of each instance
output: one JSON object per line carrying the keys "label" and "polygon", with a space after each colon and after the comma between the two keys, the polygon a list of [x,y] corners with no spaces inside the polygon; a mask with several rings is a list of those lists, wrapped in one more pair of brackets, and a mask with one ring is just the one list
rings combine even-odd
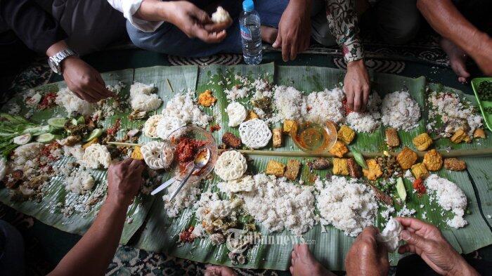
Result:
{"label": "white shirt sleeve at the top edge, upper left", "polygon": [[155,32],[164,21],[148,21],[134,17],[134,14],[138,11],[138,8],[140,8],[142,1],[143,0],[108,0],[113,8],[123,13],[124,18],[127,18],[131,25],[140,29],[142,32]]}

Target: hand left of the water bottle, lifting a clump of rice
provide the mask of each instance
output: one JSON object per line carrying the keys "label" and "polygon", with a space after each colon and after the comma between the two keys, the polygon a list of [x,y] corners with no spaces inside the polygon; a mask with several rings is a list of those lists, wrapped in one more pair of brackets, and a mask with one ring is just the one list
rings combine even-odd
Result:
{"label": "hand left of the water bottle, lifting a clump of rice", "polygon": [[226,38],[225,29],[231,25],[214,24],[209,15],[188,1],[163,2],[164,18],[190,38],[207,43],[219,43]]}

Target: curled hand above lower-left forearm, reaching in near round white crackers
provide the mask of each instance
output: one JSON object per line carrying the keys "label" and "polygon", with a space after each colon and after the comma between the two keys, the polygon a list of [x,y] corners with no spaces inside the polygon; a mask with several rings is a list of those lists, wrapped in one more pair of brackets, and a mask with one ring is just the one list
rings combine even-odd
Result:
{"label": "curled hand above lower-left forearm, reaching in near round white crackers", "polygon": [[141,160],[127,158],[108,169],[108,200],[128,206],[143,183]]}

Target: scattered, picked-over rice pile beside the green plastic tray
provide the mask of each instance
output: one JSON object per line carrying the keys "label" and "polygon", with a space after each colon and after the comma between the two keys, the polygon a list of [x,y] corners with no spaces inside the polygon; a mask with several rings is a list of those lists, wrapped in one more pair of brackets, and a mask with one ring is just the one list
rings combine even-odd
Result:
{"label": "scattered, picked-over rice pile beside the green plastic tray", "polygon": [[475,129],[482,126],[481,115],[475,110],[468,100],[460,100],[453,92],[432,92],[427,99],[429,101],[429,124],[427,129],[434,130],[436,119],[440,117],[444,129],[440,129],[441,136],[451,137],[458,129],[467,131],[468,136],[473,136]]}

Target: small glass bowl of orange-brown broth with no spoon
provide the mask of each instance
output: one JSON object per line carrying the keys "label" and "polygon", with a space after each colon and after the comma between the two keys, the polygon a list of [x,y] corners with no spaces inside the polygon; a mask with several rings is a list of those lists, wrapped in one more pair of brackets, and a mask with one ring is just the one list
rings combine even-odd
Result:
{"label": "small glass bowl of orange-brown broth with no spoon", "polygon": [[337,128],[332,121],[315,124],[310,121],[295,122],[290,137],[303,152],[318,155],[328,152],[337,142]]}

